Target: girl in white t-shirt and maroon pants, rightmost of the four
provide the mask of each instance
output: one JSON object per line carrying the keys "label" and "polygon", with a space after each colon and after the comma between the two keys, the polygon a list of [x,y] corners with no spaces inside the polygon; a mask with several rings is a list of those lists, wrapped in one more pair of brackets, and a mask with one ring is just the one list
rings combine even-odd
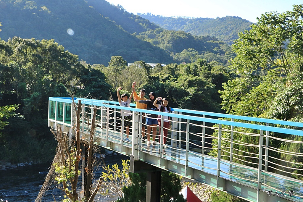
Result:
{"label": "girl in white t-shirt and maroon pants, rightmost of the four", "polygon": [[[160,100],[162,100],[161,105],[157,104],[157,101],[160,101]],[[159,111],[170,113],[170,108],[169,108],[168,102],[169,102],[169,100],[167,98],[162,99],[161,97],[158,97],[154,101],[154,106],[156,108],[158,108]],[[159,116],[159,118],[160,117],[161,116]],[[165,145],[166,144],[167,133],[168,133],[168,128],[170,128],[170,121],[169,121],[170,117],[169,116],[164,116],[163,119],[164,119],[163,120],[163,144]],[[158,119],[158,124],[161,127],[161,119]],[[166,145],[165,145],[165,147],[166,147]]]}

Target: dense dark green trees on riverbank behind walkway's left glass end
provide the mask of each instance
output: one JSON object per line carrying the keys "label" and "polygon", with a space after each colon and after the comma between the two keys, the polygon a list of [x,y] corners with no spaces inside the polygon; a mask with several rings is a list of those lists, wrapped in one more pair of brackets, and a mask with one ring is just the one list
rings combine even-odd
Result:
{"label": "dense dark green trees on riverbank behind walkway's left glass end", "polygon": [[[93,97],[108,99],[111,86],[100,70],[85,68],[76,55],[54,40],[14,37],[0,41],[0,46],[0,113],[8,112],[4,106],[10,106],[12,112],[18,105],[16,113],[20,114],[10,117],[8,121],[12,121],[2,131],[1,159],[49,161],[55,144],[46,121],[48,97],[90,92]],[[33,144],[30,148],[35,149],[24,144]]]}

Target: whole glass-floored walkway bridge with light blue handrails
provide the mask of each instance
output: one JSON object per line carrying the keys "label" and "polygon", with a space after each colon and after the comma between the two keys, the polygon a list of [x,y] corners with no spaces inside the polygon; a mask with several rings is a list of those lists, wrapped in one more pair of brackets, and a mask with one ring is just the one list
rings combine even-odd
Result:
{"label": "whole glass-floored walkway bridge with light blue handrails", "polygon": [[[119,106],[118,102],[74,98],[82,102],[81,138],[87,140],[97,108],[94,143],[191,180],[260,202],[303,202],[303,123],[171,108],[173,113]],[[123,110],[132,114],[126,141]],[[142,138],[142,114],[162,115],[155,144]],[[170,117],[163,143],[164,115]],[[49,98],[48,126],[74,134],[72,98]],[[123,133],[121,133],[123,131]]]}

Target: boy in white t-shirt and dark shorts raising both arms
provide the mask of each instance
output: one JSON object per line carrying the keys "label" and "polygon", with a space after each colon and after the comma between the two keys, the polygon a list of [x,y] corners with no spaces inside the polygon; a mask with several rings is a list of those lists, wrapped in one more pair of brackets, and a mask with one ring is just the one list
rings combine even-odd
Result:
{"label": "boy in white t-shirt and dark shorts raising both arms", "polygon": [[[117,96],[118,96],[119,104],[120,104],[121,107],[129,107],[129,104],[132,101],[132,96],[134,94],[134,91],[135,91],[134,89],[135,88],[132,89],[132,94],[131,94],[131,96],[129,96],[129,99],[128,99],[128,96],[127,96],[126,93],[122,94],[121,98],[120,98],[119,91],[121,89],[122,89],[121,87],[117,89]],[[132,122],[131,111],[130,110],[124,110],[121,114],[121,118],[124,119],[124,126],[126,128],[126,141],[129,142],[129,139],[128,139],[129,127],[131,126],[131,122]],[[124,133],[124,131],[122,131],[122,127],[121,127],[121,135],[123,135],[123,133]]]}

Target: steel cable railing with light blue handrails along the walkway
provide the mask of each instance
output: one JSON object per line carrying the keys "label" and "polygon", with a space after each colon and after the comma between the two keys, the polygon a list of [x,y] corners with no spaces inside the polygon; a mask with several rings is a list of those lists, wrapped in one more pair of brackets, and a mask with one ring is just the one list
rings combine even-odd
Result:
{"label": "steel cable railing with light blue handrails along the walkway", "polygon": [[[56,100],[57,98],[52,99],[56,103],[63,101],[60,99]],[[264,177],[265,173],[273,176],[276,176],[277,173],[284,173],[286,176],[285,181],[292,181],[293,179],[293,181],[301,182],[295,178],[302,179],[301,177],[303,176],[303,162],[300,160],[303,157],[303,149],[301,150],[299,147],[303,141],[295,137],[303,135],[303,132],[278,125],[287,125],[289,123],[289,126],[302,127],[303,125],[300,123],[277,121],[277,124],[275,124],[275,120],[271,120],[269,122],[271,126],[269,124],[265,126],[265,123],[267,123],[265,121],[268,120],[258,118],[243,118],[241,120],[236,119],[239,117],[235,116],[235,118],[214,119],[205,117],[211,116],[208,115],[208,112],[198,112],[199,116],[197,116],[197,114],[191,113],[193,111],[188,111],[187,113],[185,112],[186,110],[176,109],[174,113],[168,114],[136,108],[125,108],[118,106],[116,103],[112,104],[105,101],[93,101],[90,99],[82,101],[86,101],[82,112],[81,130],[83,133],[88,133],[90,127],[89,118],[92,117],[92,109],[98,106],[101,109],[98,112],[99,114],[96,115],[96,124],[98,127],[96,128],[97,132],[94,138],[104,139],[106,140],[105,142],[112,141],[115,144],[121,145],[121,148],[123,146],[132,147],[130,151],[135,156],[141,155],[140,157],[144,158],[144,155],[140,154],[144,153],[145,155],[159,157],[160,160],[158,161],[159,164],[156,164],[157,166],[164,166],[161,165],[161,159],[178,161],[185,168],[182,175],[188,176],[189,169],[196,169],[197,167],[200,167],[200,169],[207,168],[216,171],[218,177],[220,177],[220,172],[222,172],[238,183],[242,183],[241,180],[250,180],[251,183],[256,183],[253,186],[257,186],[258,190],[261,190],[260,180],[262,176]],[[123,120],[121,118],[121,113],[124,109],[132,112],[131,115],[135,116],[133,117],[135,121]],[[161,118],[161,121],[166,120],[171,123],[171,128],[163,127],[163,124],[161,124],[161,127],[157,126],[154,128],[157,130],[157,134],[155,135],[157,142],[151,146],[148,146],[147,140],[142,138],[142,133],[146,137],[147,131],[142,131],[139,134],[141,126],[147,127],[145,123],[140,122],[144,117],[142,113],[147,112],[162,115],[162,117],[164,115],[168,116],[170,117],[169,120]],[[216,114],[216,116],[218,115]],[[232,117],[231,115],[229,116]],[[224,116],[222,115],[222,117]],[[253,120],[254,123],[248,123],[250,120]],[[129,131],[130,143],[124,141],[125,131],[121,133],[121,128],[125,129],[126,123],[130,123],[131,125]],[[57,120],[55,116],[55,119],[49,118],[49,124],[54,126],[62,124],[62,121]],[[62,125],[67,126],[65,123]],[[167,142],[166,144],[161,144],[163,142],[164,129],[168,131]],[[138,159],[138,157],[136,158]],[[206,164],[211,166],[201,164],[203,161],[206,161]],[[213,162],[210,164],[208,161]],[[225,162],[225,166],[223,166],[222,162]],[[228,169],[227,165],[229,166]],[[253,175],[254,179],[243,177],[246,172],[250,172],[250,175]],[[262,183],[265,185],[268,184],[266,180],[262,181]],[[282,190],[279,187],[275,187],[275,189]]]}

